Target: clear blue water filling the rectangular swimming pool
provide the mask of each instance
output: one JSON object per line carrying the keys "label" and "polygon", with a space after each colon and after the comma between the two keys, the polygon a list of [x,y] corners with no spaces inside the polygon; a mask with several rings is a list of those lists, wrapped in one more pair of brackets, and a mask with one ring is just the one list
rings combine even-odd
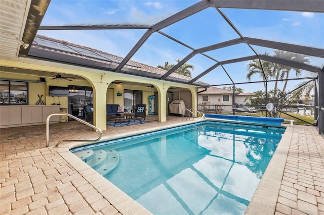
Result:
{"label": "clear blue water filling the rectangular swimming pool", "polygon": [[284,131],[201,122],[71,151],[153,214],[244,214]]}

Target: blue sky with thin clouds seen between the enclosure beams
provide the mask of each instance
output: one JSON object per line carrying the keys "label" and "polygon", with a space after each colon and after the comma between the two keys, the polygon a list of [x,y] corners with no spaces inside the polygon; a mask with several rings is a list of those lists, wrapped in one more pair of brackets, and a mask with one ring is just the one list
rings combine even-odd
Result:
{"label": "blue sky with thin clouds seen between the enclosure beams", "polygon": [[[42,25],[65,24],[155,24],[198,1],[96,1],[96,0],[52,0]],[[269,39],[311,47],[324,48],[324,14],[221,9],[238,31],[246,37]],[[201,48],[215,43],[238,38],[234,30],[214,8],[208,8],[171,26],[162,32],[186,43],[192,48]],[[96,48],[113,55],[125,57],[139,38],[146,32],[140,30],[69,30],[38,31],[38,34]],[[269,48],[253,46],[258,53],[273,52]],[[153,33],[133,56],[132,60],[150,66],[175,64],[176,59],[187,56],[191,50],[159,33]],[[238,44],[207,53],[218,61],[254,55],[246,44]],[[316,66],[323,66],[320,58],[311,58]],[[234,82],[246,82],[248,62],[224,65]],[[196,55],[188,64],[194,66],[192,76],[200,74],[215,64],[214,61]],[[292,74],[292,73],[291,73]],[[305,72],[305,74],[307,74]],[[292,74],[290,78],[294,78]],[[231,83],[226,73],[218,67],[199,79],[211,85]],[[252,81],[261,80],[258,76]],[[290,81],[293,89],[300,81]],[[272,84],[269,84],[271,88]],[[283,83],[281,84],[283,85]],[[237,85],[245,92],[264,89],[263,84]]]}

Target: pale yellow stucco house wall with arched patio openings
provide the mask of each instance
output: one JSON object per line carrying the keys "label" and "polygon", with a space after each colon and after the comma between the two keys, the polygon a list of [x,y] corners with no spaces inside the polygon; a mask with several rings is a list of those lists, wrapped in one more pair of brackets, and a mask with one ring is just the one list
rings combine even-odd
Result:
{"label": "pale yellow stucco house wall with arched patio openings", "polygon": [[[32,92],[32,97],[30,97],[31,100],[29,102],[34,103],[36,99],[38,99],[37,94],[44,94],[45,98],[43,98],[43,101],[46,102],[46,104],[52,104],[52,103],[60,103],[61,108],[67,109],[68,108],[68,98],[67,96],[62,96],[58,99],[57,96],[48,96],[48,89],[49,86],[68,86],[68,85],[79,85],[79,86],[92,86],[94,91],[94,119],[93,123],[95,126],[100,128],[101,130],[106,130],[106,104],[107,104],[107,97],[109,97],[109,102],[113,101],[113,103],[117,103],[119,105],[124,104],[123,96],[116,96],[116,93],[124,92],[124,89],[134,89],[134,90],[142,90],[143,93],[143,103],[148,104],[148,97],[150,95],[154,95],[154,93],[157,91],[160,95],[160,98],[166,98],[167,92],[169,87],[176,87],[176,88],[184,88],[188,89],[191,92],[191,105],[196,106],[196,87],[192,85],[182,84],[182,83],[173,83],[173,82],[164,82],[161,80],[155,80],[155,79],[149,79],[145,77],[134,77],[132,75],[126,75],[126,74],[117,74],[114,72],[105,71],[104,75],[100,73],[100,70],[97,69],[89,69],[85,67],[79,67],[79,66],[71,66],[67,64],[60,64],[56,62],[43,62],[39,60],[31,60],[30,62],[20,62],[20,61],[7,61],[7,60],[1,60],[0,64],[4,67],[17,67],[17,68],[24,68],[24,69],[35,69],[40,71],[47,71],[50,73],[53,73],[53,76],[57,74],[57,71],[60,71],[64,74],[71,74],[71,75],[77,75],[80,77],[85,78],[86,80],[60,80],[57,81],[56,79],[52,79],[52,77],[46,77],[46,83],[43,83],[43,87],[37,86],[38,84],[42,83],[35,83],[32,84],[28,88],[28,94],[29,92]],[[9,76],[14,76],[10,78]],[[26,80],[26,81],[38,81],[39,76],[38,75],[24,75],[19,73],[9,73],[5,71],[1,71],[0,78],[1,79],[17,79],[19,76],[20,80]],[[150,83],[155,86],[155,90],[152,91],[148,89],[147,87],[143,86],[128,86],[128,85],[121,85],[121,86],[113,86],[110,85],[110,83],[114,80],[123,80],[126,82],[137,82],[137,83],[143,83],[147,84]],[[107,88],[111,88],[111,90],[107,90]],[[113,93],[112,93],[113,92]],[[112,94],[111,94],[112,93]],[[29,95],[30,96],[30,95]],[[111,97],[113,99],[111,99]],[[188,101],[188,106],[189,106]],[[159,115],[158,120],[159,122],[165,122],[167,120],[166,115],[166,99],[159,99]],[[160,108],[162,107],[162,108]],[[10,106],[9,108],[12,108]]]}

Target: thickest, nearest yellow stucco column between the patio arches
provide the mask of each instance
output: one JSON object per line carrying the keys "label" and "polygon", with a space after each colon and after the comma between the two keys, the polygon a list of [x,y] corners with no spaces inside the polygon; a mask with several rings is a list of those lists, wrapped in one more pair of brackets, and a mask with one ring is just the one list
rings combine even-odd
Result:
{"label": "thickest, nearest yellow stucco column between the patio arches", "polygon": [[102,131],[107,130],[107,113],[106,113],[106,93],[107,83],[93,82],[93,105],[94,105],[94,126]]}

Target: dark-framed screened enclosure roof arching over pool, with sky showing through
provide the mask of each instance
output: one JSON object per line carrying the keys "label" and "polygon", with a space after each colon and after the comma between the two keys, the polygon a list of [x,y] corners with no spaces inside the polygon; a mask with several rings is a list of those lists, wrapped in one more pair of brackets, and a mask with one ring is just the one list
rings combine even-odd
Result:
{"label": "dark-framed screened enclosure roof arching over pool, with sky showing through", "polygon": [[[134,66],[132,61],[152,67],[175,65],[163,74],[146,74],[154,79],[168,80],[182,64],[189,64],[194,66],[192,79],[174,81],[198,86],[241,84],[238,87],[243,89],[254,83],[246,90],[253,91],[263,88],[264,79],[255,75],[247,84],[247,64],[264,60],[302,70],[299,77],[293,73],[285,77],[292,89],[303,81],[299,78],[315,77],[324,66],[321,0],[32,0],[28,17],[25,43],[31,44],[37,33],[121,57],[108,71],[142,76],[140,68],[128,67]],[[303,55],[309,62],[276,55],[280,50]],[[20,56],[28,56],[28,51],[32,48],[21,48]]]}

